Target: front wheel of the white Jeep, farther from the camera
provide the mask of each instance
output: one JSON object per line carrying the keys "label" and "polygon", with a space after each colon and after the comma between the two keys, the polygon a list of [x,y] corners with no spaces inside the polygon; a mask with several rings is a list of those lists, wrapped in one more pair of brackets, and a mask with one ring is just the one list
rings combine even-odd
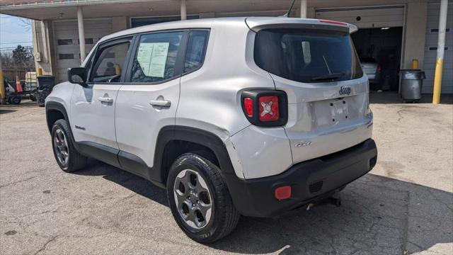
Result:
{"label": "front wheel of the white Jeep, farther from the camera", "polygon": [[60,169],[71,173],[83,168],[88,161],[74,147],[74,139],[66,120],[57,120],[52,127],[52,148]]}

